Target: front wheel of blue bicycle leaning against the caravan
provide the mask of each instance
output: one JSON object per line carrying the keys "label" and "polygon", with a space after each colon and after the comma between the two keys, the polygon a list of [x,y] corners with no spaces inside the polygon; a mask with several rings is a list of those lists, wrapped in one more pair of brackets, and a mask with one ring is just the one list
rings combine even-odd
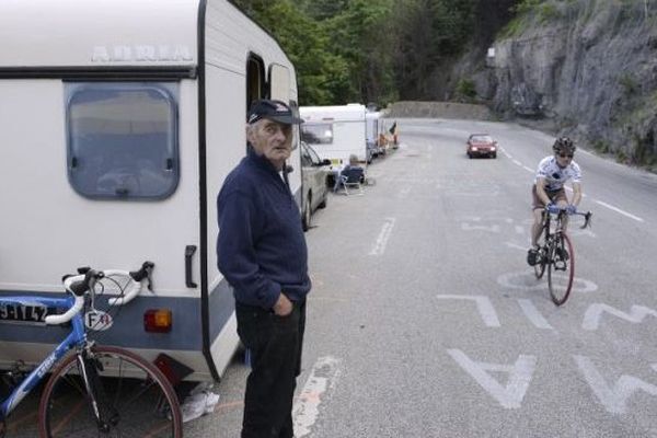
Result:
{"label": "front wheel of blue bicycle leaning against the caravan", "polygon": [[[91,347],[85,368],[94,367],[89,379],[97,404],[93,406],[77,357],[68,356],[44,389],[38,408],[42,438],[183,436],[177,396],[155,366],[123,348]],[[102,425],[94,410],[101,412]]]}

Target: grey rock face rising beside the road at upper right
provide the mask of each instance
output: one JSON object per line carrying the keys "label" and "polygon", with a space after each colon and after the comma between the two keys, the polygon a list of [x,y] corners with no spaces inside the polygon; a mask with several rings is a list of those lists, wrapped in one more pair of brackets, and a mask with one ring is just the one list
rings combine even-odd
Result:
{"label": "grey rock face rising beside the road at upper right", "polygon": [[657,166],[655,3],[544,1],[496,41],[488,71],[472,74],[477,92],[499,113],[550,119],[562,135]]}

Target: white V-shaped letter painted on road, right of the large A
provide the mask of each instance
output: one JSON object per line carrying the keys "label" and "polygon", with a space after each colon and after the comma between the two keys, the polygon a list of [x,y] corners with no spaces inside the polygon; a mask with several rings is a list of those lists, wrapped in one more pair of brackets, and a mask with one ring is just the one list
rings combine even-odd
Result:
{"label": "white V-shaped letter painted on road, right of the large A", "polygon": [[573,357],[587,383],[591,387],[593,394],[604,408],[612,414],[624,414],[626,411],[625,402],[638,390],[657,396],[656,385],[644,382],[634,376],[622,374],[611,388],[588,357],[577,355],[573,355]]}

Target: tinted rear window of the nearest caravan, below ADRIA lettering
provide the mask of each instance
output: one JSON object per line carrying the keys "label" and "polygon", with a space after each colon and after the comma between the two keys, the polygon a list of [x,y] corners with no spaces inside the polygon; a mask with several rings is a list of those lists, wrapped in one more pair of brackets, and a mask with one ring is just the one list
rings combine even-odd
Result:
{"label": "tinted rear window of the nearest caravan, below ADRIA lettering", "polygon": [[177,84],[67,84],[68,175],[82,196],[162,199],[178,182]]}

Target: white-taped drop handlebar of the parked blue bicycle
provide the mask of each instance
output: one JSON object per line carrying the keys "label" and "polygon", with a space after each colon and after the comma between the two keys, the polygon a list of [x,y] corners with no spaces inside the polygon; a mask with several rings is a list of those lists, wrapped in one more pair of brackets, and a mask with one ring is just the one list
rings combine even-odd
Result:
{"label": "white-taped drop handlebar of the parked blue bicycle", "polygon": [[74,275],[74,276],[65,276],[62,278],[64,287],[67,291],[71,292],[74,296],[73,306],[67,310],[62,314],[57,315],[48,315],[45,318],[45,322],[48,325],[57,325],[69,322],[73,319],[76,314],[78,314],[83,306],[84,306],[84,295],[87,292],[93,293],[93,288],[95,287],[96,281],[104,277],[111,277],[120,275],[124,277],[129,277],[130,280],[126,286],[126,291],[120,297],[110,298],[107,302],[110,306],[124,306],[130,302],[135,297],[141,292],[143,280],[148,280],[148,288],[152,290],[152,281],[150,279],[151,272],[154,267],[152,262],[143,262],[141,268],[139,270],[119,270],[119,269],[107,269],[107,270],[94,270],[80,268],[80,272],[84,270],[84,274]]}

